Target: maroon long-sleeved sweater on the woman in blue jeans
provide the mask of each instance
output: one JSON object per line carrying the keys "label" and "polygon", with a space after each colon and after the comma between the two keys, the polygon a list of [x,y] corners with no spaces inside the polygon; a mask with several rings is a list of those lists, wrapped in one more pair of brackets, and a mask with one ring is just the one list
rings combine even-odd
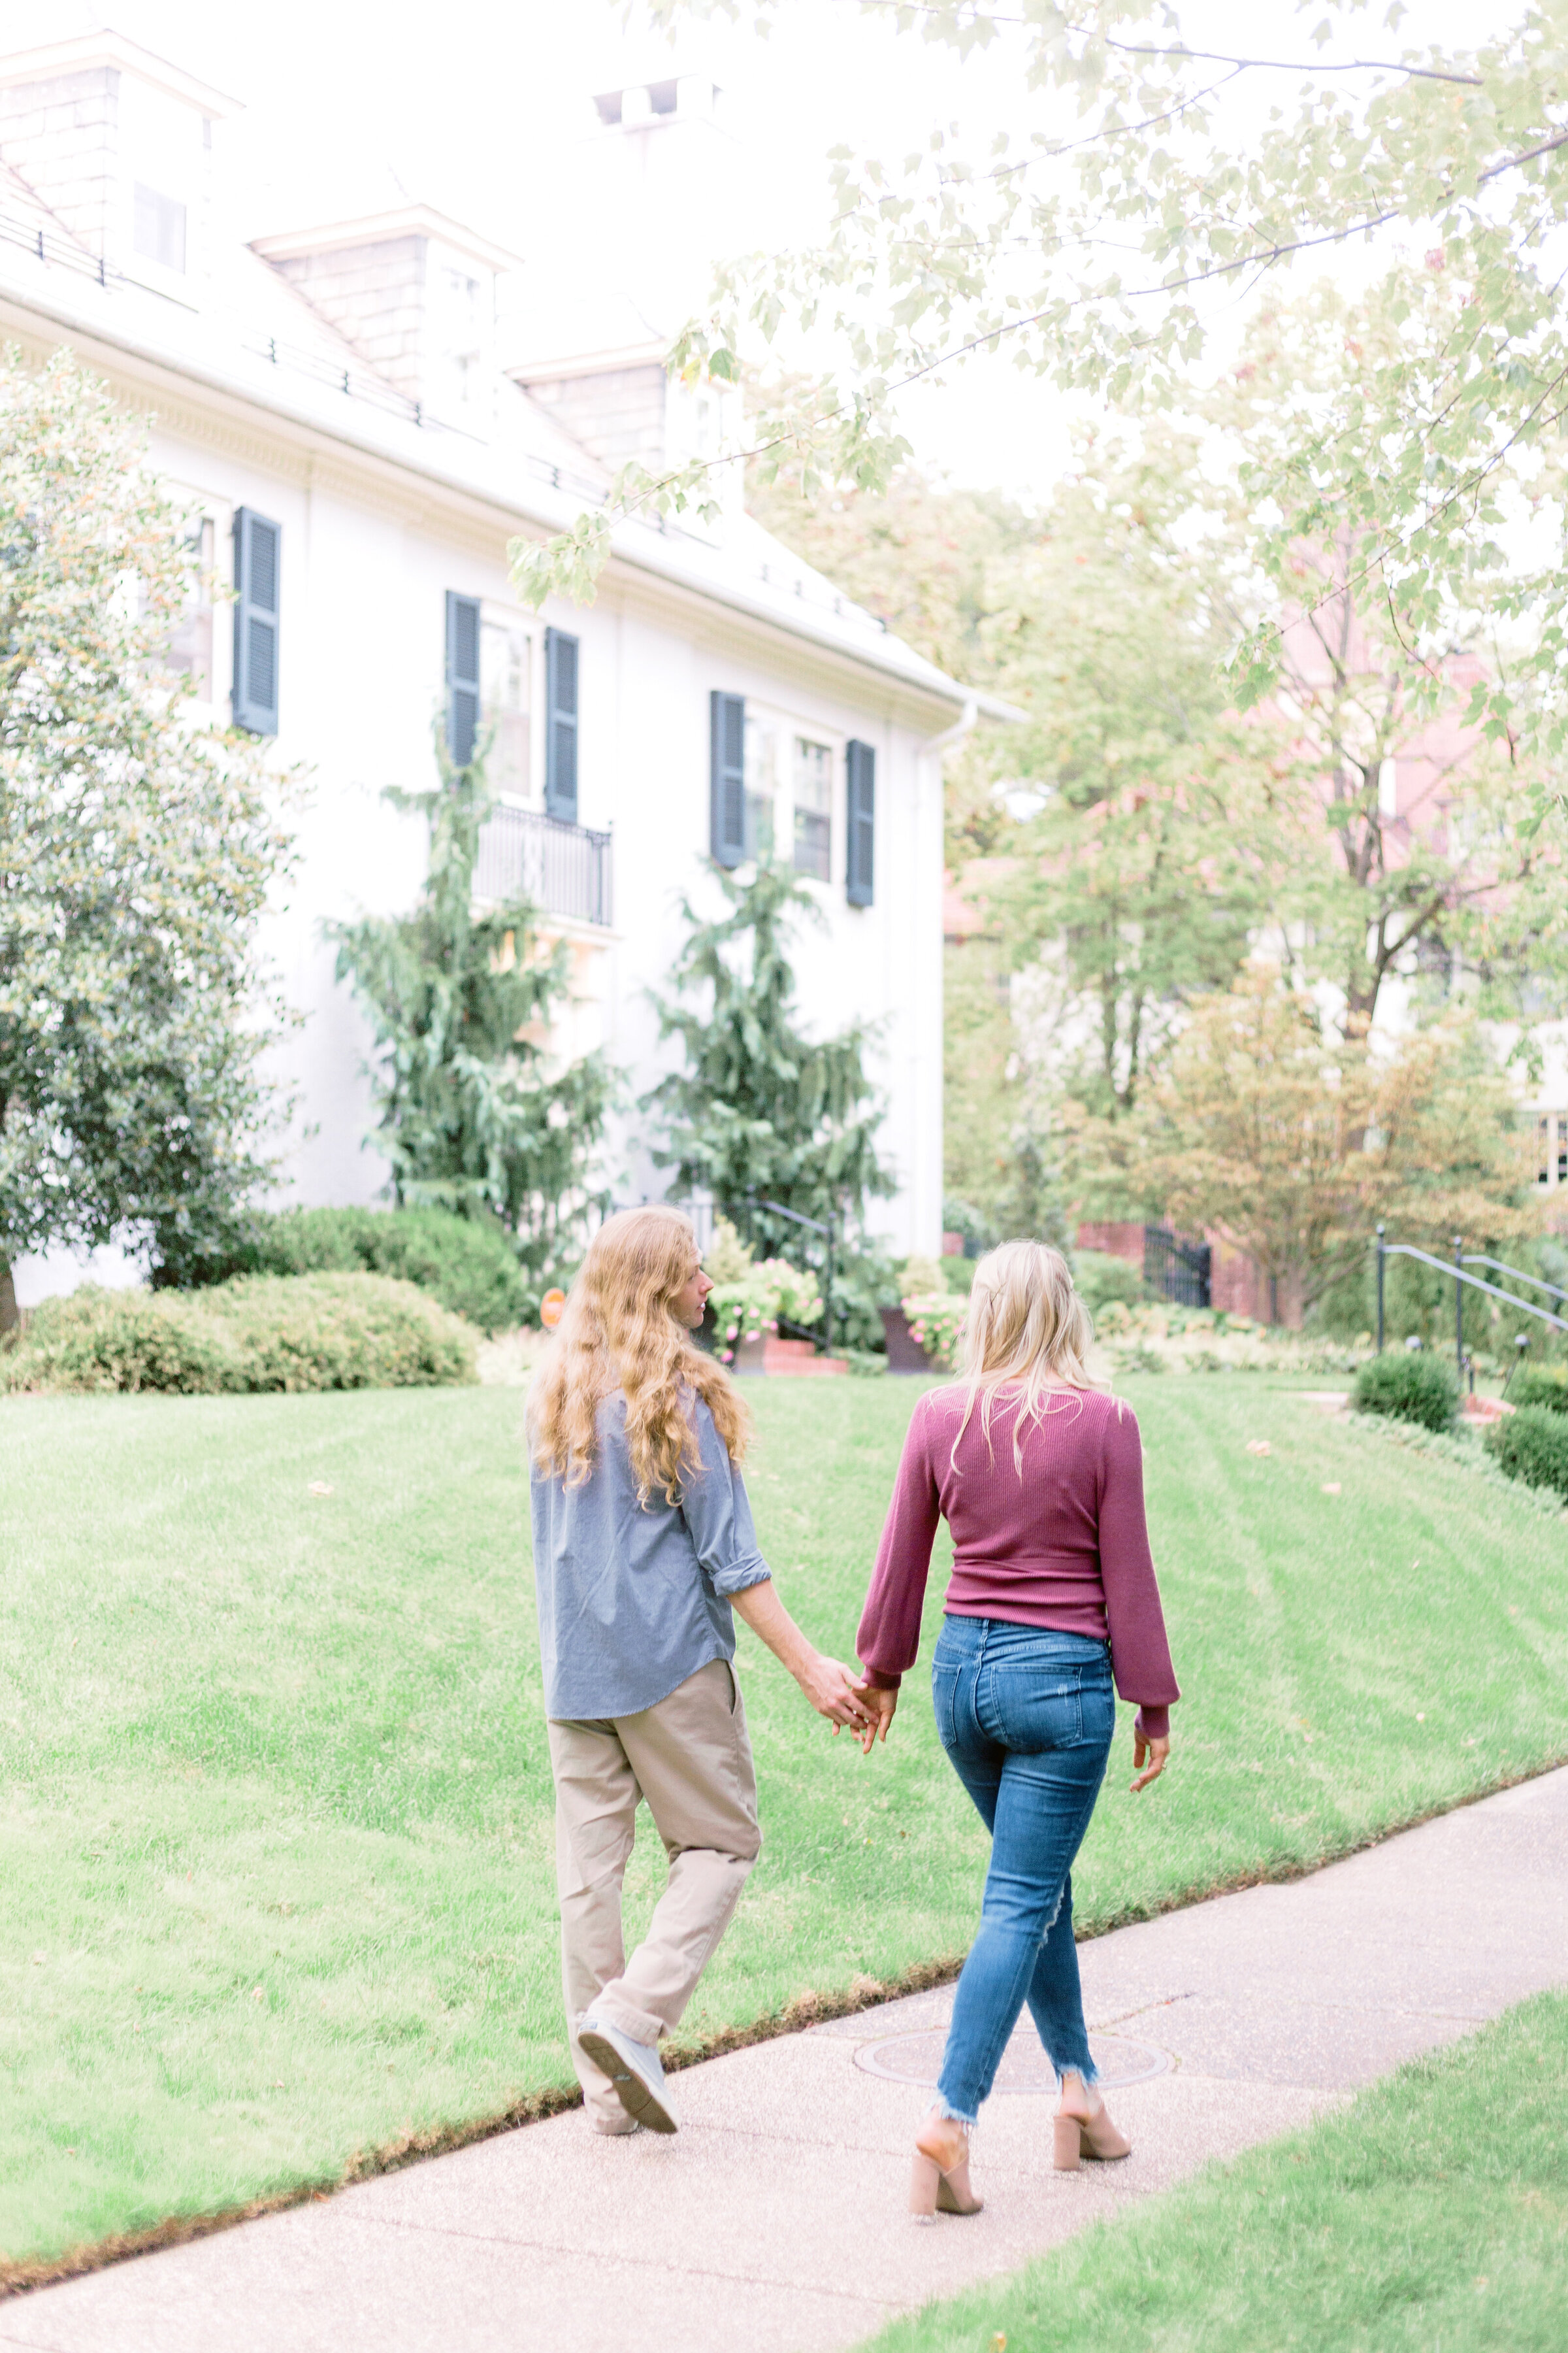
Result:
{"label": "maroon long-sleeved sweater on the woman in blue jeans", "polygon": [[1016,1393],[980,1407],[957,1445],[964,1388],[931,1388],[903,1445],[856,1654],[867,1680],[896,1689],[914,1666],[938,1518],[952,1529],[947,1617],[994,1617],[1110,1640],[1124,1699],[1150,1739],[1166,1739],[1180,1699],[1143,1518],[1143,1445],[1128,1405],[1098,1388],[1053,1391],[1023,1433],[1013,1466]]}

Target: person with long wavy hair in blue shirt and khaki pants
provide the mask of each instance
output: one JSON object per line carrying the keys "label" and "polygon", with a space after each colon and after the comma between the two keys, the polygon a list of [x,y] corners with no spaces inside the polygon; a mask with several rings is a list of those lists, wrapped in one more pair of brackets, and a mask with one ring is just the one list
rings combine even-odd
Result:
{"label": "person with long wavy hair in blue shirt and khaki pants", "polygon": [[[607,1219],[529,1398],[567,2026],[599,2132],[675,2132],[658,2038],[762,1845],[731,1607],[835,1732],[870,1722],[856,1678],[806,1642],[757,1551],[748,1412],[689,1337],[710,1289],[677,1209]],[[625,1960],[639,1798],[670,1880]]]}

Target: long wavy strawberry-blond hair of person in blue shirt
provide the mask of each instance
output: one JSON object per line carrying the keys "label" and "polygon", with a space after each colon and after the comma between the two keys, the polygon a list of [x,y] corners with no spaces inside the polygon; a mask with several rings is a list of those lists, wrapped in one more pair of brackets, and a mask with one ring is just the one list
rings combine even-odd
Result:
{"label": "long wavy strawberry-blond hair of person in blue shirt", "polygon": [[578,1268],[550,1351],[529,1398],[529,1445],[541,1471],[581,1487],[595,1466],[595,1414],[625,1393],[625,1445],[637,1501],[654,1487],[679,1501],[682,1473],[701,1473],[686,1400],[708,1405],[731,1461],[745,1457],[752,1417],[736,1386],[672,1315],[696,1259],[691,1219],[679,1209],[621,1209],[609,1217]]}

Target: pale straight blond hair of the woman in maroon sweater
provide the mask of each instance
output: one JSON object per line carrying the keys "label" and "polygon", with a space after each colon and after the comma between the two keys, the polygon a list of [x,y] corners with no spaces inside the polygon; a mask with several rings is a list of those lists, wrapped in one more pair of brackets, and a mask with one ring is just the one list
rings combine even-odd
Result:
{"label": "pale straight blond hair of the woman in maroon sweater", "polygon": [[1088,1308],[1072,1287],[1072,1271],[1048,1242],[999,1242],[976,1266],[964,1318],[964,1419],[952,1440],[957,1471],[959,1438],[980,1407],[985,1452],[992,1454],[992,1414],[999,1393],[1018,1391],[1013,1414],[1013,1468],[1023,1480],[1023,1433],[1044,1421],[1051,1395],[1091,1388],[1088,1355],[1095,1337]]}

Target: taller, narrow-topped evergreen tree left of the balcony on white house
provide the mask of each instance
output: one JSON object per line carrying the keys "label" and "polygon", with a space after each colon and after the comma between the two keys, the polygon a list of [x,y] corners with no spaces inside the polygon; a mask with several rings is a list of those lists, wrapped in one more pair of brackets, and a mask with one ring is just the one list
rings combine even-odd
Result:
{"label": "taller, narrow-topped evergreen tree left of the balcony on white house", "polygon": [[482,760],[454,769],[437,739],[437,762],[435,791],[386,795],[430,826],[418,906],[334,925],[339,979],[353,981],[376,1031],[371,1078],[397,1207],[494,1217],[543,1275],[604,1205],[592,1162],[614,1080],[602,1054],[552,1068],[536,1042],[567,991],[567,946],[543,948],[529,899],[475,913],[491,793]]}

